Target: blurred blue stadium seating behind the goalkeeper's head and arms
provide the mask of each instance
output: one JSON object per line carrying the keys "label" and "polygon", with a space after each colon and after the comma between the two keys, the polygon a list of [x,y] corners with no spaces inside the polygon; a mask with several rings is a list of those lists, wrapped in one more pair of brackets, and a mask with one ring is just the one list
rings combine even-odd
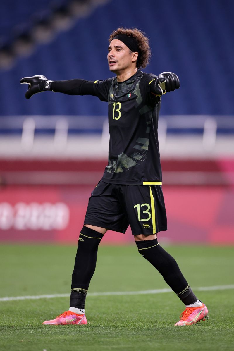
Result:
{"label": "blurred blue stadium seating behind the goalkeeper's head and arms", "polygon": [[[46,10],[47,2],[36,1],[38,9]],[[26,21],[33,12],[33,1],[8,1],[14,7],[11,18],[3,11],[4,3],[3,32],[8,28],[4,18],[13,26],[16,15]],[[19,80],[34,74],[51,80],[111,77],[107,40],[113,29],[124,26],[137,27],[150,39],[153,55],[146,72],[171,71],[180,78],[180,90],[163,96],[162,114],[233,115],[233,13],[232,0],[109,1],[50,44],[37,46],[30,57],[18,58],[11,70],[0,72],[0,114],[106,115],[106,104],[95,97],[49,92],[26,100],[26,86]]]}

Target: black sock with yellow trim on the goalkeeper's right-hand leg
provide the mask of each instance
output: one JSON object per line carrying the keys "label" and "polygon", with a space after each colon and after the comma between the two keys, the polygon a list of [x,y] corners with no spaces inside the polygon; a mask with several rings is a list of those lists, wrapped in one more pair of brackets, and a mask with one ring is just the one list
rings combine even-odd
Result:
{"label": "black sock with yellow trim on the goalkeeper's right-hand leg", "polygon": [[193,304],[198,300],[174,258],[159,245],[157,239],[136,241],[136,245],[141,256],[159,271],[165,282],[185,305]]}

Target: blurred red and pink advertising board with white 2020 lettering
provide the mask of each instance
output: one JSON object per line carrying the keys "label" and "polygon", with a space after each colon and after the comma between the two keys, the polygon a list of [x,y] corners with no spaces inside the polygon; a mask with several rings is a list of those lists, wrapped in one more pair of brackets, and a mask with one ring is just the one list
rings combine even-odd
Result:
{"label": "blurred red and pink advertising board with white 2020 lettering", "polygon": [[[0,240],[76,243],[93,186],[3,186]],[[177,243],[234,244],[234,188],[164,186],[168,231],[159,238]],[[133,241],[108,231],[102,242]]]}

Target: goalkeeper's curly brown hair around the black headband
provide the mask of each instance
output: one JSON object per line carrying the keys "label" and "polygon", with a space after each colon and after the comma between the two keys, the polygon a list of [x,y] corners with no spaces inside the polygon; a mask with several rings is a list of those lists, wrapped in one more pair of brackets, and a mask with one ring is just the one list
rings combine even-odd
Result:
{"label": "goalkeeper's curly brown hair around the black headband", "polygon": [[138,47],[140,49],[140,54],[138,55],[138,59],[136,61],[137,68],[145,68],[149,63],[149,58],[151,57],[151,49],[149,46],[149,39],[144,35],[145,33],[141,32],[137,28],[123,28],[120,27],[113,31],[109,37],[109,42],[117,35],[117,34],[126,34],[128,37],[133,37],[136,39],[138,43]]}

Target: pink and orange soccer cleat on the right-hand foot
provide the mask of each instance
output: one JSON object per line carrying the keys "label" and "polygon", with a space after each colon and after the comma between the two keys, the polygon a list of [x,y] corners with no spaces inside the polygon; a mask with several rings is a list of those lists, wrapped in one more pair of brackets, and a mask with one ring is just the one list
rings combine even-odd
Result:
{"label": "pink and orange soccer cleat on the right-hand foot", "polygon": [[180,315],[179,322],[175,325],[193,325],[200,320],[208,319],[208,310],[206,305],[202,304],[201,307],[187,307]]}

